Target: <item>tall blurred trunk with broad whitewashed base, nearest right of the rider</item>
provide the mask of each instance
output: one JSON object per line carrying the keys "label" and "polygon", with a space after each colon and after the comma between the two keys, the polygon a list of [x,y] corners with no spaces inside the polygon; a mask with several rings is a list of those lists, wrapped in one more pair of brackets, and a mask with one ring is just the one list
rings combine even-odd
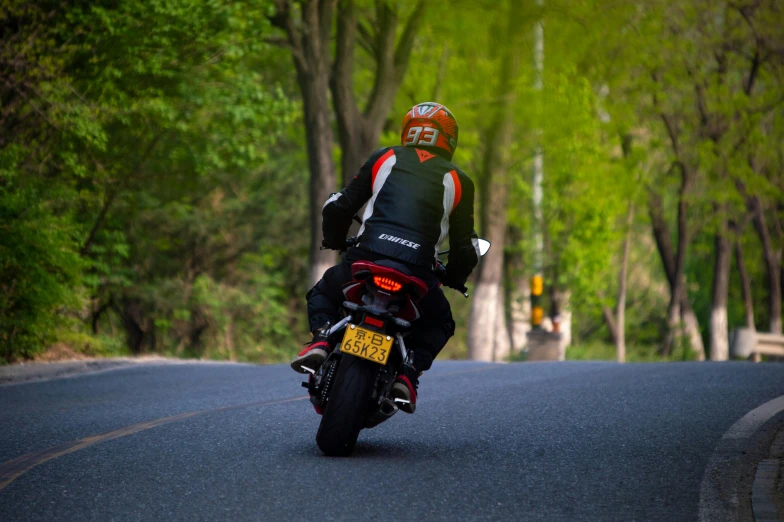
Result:
{"label": "tall blurred trunk with broad whitewashed base, nearest right of the rider", "polygon": [[[510,4],[512,12],[507,29],[510,45],[502,58],[497,89],[497,98],[501,100],[509,99],[514,93],[523,47],[520,41],[523,32],[517,26],[521,2],[512,0]],[[504,110],[506,104],[492,109],[491,124],[485,134],[482,168],[485,189],[481,210],[482,235],[493,244],[493,248],[482,258],[468,319],[468,358],[477,361],[495,360],[496,346],[502,343],[497,337],[508,336],[503,308],[503,264],[508,193],[506,172],[514,122],[512,112]]]}

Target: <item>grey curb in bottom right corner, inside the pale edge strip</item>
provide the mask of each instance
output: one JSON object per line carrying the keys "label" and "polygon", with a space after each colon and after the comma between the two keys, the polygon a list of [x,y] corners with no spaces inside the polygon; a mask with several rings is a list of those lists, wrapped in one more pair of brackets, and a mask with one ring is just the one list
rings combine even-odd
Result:
{"label": "grey curb in bottom right corner, inside the pale edge strip", "polygon": [[773,439],[768,458],[757,465],[751,507],[755,522],[784,520],[784,428]]}

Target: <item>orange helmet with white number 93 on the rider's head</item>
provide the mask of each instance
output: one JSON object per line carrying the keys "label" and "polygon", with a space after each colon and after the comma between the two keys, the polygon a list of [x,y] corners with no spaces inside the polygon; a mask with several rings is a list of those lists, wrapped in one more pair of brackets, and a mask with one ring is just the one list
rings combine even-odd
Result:
{"label": "orange helmet with white number 93 on the rider's head", "polygon": [[457,120],[440,103],[414,105],[403,116],[400,141],[404,147],[439,149],[447,159],[452,159],[457,148]]}

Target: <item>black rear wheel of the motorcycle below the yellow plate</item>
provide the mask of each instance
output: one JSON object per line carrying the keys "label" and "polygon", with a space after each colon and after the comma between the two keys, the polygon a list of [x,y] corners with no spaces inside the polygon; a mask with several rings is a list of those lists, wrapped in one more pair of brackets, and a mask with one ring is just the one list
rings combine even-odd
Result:
{"label": "black rear wheel of the motorcycle below the yellow plate", "polygon": [[316,444],[325,455],[347,457],[354,451],[378,368],[373,362],[343,354],[316,433]]}

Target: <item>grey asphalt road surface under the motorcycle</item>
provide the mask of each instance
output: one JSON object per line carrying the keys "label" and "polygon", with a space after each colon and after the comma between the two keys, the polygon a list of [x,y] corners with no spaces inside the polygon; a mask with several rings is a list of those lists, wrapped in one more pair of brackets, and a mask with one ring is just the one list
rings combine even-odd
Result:
{"label": "grey asphalt road surface under the motorcycle", "polygon": [[[0,520],[705,519],[706,466],[784,364],[437,363],[417,413],[347,459],[320,454],[299,382],[194,364],[0,386]],[[735,441],[744,466],[782,422]]]}

